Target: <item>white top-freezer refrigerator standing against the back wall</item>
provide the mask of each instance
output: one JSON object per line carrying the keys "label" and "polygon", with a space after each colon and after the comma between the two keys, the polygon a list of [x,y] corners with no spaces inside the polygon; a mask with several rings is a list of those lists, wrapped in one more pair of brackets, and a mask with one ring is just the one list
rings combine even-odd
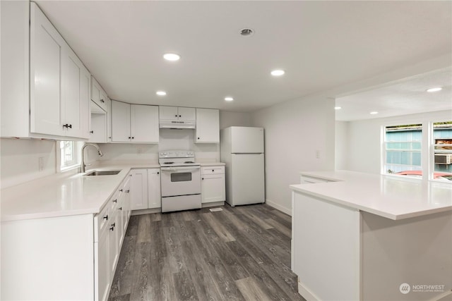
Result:
{"label": "white top-freezer refrigerator standing against the back wall", "polygon": [[232,207],[265,202],[263,128],[220,130],[220,147],[226,164],[226,202]]}

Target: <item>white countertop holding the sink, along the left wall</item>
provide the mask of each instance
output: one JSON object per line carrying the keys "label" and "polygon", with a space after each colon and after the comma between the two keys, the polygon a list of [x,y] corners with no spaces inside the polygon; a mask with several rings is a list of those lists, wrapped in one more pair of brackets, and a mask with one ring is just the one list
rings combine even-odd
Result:
{"label": "white countertop holding the sink, along the left wall", "polygon": [[57,173],[1,190],[1,221],[97,214],[131,168],[160,168],[157,162],[99,163],[93,170],[121,170],[117,175]]}

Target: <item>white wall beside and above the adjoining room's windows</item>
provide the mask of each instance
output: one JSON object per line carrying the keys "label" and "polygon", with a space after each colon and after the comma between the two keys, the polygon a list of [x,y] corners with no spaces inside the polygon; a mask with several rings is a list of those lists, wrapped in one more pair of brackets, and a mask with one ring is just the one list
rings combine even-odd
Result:
{"label": "white wall beside and above the adjoining room's windows", "polygon": [[[436,111],[388,118],[374,118],[364,121],[350,121],[348,136],[347,166],[350,171],[380,173],[381,171],[381,128],[385,125],[427,123],[429,121],[452,121],[452,111]],[[341,139],[338,137],[338,139]]]}

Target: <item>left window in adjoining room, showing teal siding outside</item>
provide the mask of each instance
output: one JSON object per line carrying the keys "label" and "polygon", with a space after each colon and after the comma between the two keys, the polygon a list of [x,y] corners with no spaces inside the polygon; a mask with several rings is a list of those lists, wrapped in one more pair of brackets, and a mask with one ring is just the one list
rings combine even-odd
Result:
{"label": "left window in adjoining room, showing teal siding outside", "polygon": [[385,173],[422,176],[422,124],[386,126]]}

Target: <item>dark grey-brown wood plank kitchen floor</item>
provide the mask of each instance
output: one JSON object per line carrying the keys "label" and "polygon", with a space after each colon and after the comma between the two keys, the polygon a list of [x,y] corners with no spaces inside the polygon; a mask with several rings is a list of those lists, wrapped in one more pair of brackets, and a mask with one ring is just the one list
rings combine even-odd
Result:
{"label": "dark grey-brown wood plank kitchen floor", "polygon": [[131,216],[109,300],[304,300],[266,204]]}

